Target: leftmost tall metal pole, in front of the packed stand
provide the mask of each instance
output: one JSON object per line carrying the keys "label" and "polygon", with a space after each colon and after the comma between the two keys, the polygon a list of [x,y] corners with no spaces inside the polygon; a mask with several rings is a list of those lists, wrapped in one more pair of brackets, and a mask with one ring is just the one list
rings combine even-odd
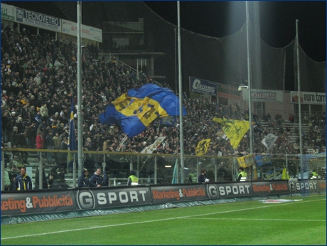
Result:
{"label": "leftmost tall metal pole, in front of the packed stand", "polygon": [[77,150],[78,173],[83,169],[82,134],[82,1],[77,1]]}

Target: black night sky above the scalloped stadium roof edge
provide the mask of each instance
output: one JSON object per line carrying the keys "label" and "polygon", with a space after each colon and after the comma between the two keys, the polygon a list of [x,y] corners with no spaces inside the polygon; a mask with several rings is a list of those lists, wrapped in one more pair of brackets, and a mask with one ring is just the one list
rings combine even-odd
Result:
{"label": "black night sky above the scalloped stadium roof edge", "polygon": [[[144,1],[156,14],[177,25],[176,1]],[[274,48],[289,45],[296,37],[316,61],[326,60],[326,1],[260,1],[262,40]],[[245,1],[181,1],[181,28],[213,37],[240,30],[245,23]]]}

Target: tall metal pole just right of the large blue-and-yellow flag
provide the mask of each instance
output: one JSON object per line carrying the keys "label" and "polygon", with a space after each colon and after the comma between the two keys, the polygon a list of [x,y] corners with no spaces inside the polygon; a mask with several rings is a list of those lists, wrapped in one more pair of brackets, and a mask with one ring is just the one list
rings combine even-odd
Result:
{"label": "tall metal pole just right of the large blue-and-yellow flag", "polygon": [[181,146],[181,183],[184,183],[184,136],[183,136],[183,90],[182,90],[182,66],[181,66],[181,18],[180,7],[177,1],[178,16],[178,85],[179,85],[179,141]]}

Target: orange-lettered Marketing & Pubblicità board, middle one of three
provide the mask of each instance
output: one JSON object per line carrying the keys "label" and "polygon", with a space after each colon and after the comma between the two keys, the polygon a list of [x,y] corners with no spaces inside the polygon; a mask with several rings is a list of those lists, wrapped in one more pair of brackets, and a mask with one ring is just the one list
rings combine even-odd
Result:
{"label": "orange-lettered Marketing & Pubblicit\u00e0 board, middle one of three", "polygon": [[205,185],[151,187],[153,203],[173,203],[207,198]]}

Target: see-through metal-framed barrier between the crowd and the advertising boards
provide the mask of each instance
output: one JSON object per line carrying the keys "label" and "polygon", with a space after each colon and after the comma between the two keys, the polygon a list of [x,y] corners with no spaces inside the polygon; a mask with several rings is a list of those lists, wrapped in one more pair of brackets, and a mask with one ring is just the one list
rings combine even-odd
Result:
{"label": "see-through metal-framed barrier between the crowd and the advertising boards", "polygon": [[[125,152],[83,151],[83,168],[89,170],[90,175],[97,167],[109,166],[110,186],[127,185],[129,171],[136,171],[140,184],[168,184],[168,183],[194,183],[200,174],[200,169],[207,170],[210,181],[235,181],[238,175],[238,162],[234,156],[184,156],[184,170],[181,170],[180,156],[172,154],[139,154]],[[14,156],[18,159],[13,161]],[[28,176],[32,178],[33,186],[42,187],[42,164],[45,164],[45,176],[48,177],[51,169],[56,172],[65,171],[63,188],[77,187],[77,179],[82,169],[77,164],[77,151],[48,150],[48,149],[11,149],[1,151],[1,190],[4,191],[5,171],[11,172],[12,164],[18,169],[26,166]],[[289,172],[290,178],[309,178],[311,171],[320,171],[320,178],[326,177],[326,154],[316,155],[301,166],[299,155],[272,156],[272,164],[266,166],[250,166],[246,169],[249,180],[281,179],[284,168]],[[254,171],[255,170],[255,171]],[[181,180],[181,171],[185,180]],[[324,171],[324,173],[323,173]],[[18,173],[16,173],[18,174]],[[60,187],[59,187],[60,188]],[[8,189],[8,187],[6,188]]]}

